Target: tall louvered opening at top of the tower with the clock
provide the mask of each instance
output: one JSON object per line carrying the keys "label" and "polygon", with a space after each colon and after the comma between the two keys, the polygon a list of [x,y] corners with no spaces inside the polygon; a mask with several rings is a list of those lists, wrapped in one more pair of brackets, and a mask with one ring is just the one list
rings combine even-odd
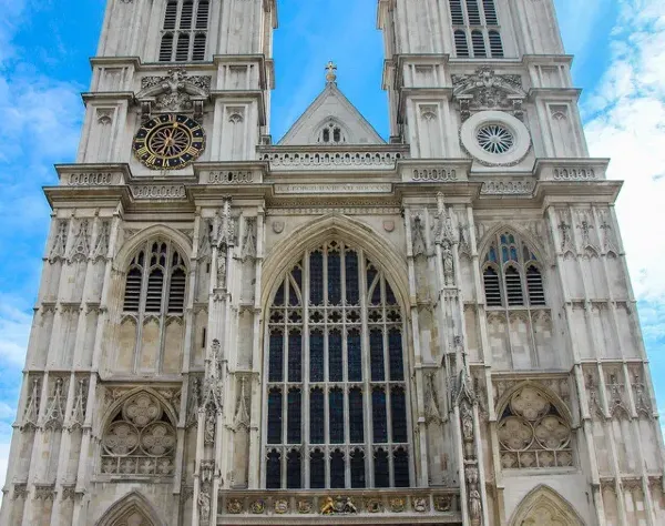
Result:
{"label": "tall louvered opening at top of the tower with the clock", "polygon": [[205,60],[209,0],[168,0],[164,9],[160,62]]}

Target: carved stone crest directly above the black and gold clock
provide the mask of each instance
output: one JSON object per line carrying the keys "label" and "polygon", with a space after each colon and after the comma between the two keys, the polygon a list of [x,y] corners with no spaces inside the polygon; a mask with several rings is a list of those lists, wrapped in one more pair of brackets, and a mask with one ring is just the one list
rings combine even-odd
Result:
{"label": "carved stone crest directly above the black and gold clock", "polygon": [[142,121],[149,121],[153,112],[193,112],[194,119],[201,121],[211,81],[211,77],[188,75],[183,68],[171,69],[165,77],[144,77],[136,93]]}

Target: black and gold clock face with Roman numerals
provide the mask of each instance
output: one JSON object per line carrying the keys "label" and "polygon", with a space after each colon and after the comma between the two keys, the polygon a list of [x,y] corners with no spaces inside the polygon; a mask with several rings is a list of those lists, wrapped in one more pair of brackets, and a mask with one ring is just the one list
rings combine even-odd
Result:
{"label": "black and gold clock face with Roman numerals", "polygon": [[186,115],[158,115],[141,127],[132,148],[136,159],[152,170],[177,170],[203,153],[205,133]]}

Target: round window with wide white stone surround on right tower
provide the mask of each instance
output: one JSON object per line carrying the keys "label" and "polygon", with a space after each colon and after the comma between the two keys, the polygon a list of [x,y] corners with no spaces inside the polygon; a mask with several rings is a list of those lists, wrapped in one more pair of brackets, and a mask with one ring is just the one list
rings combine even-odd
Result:
{"label": "round window with wide white stone surround on right tower", "polygon": [[531,149],[531,136],[523,122],[503,111],[479,111],[462,124],[462,146],[481,164],[512,166]]}

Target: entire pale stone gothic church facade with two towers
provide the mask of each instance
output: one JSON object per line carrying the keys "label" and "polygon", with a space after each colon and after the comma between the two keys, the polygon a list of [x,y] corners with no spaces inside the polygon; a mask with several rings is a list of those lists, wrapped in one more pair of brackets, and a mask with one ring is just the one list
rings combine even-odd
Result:
{"label": "entire pale stone gothic church facade with two towers", "polygon": [[329,64],[273,142],[275,0],[109,0],[1,524],[665,524],[552,0],[378,26],[389,140]]}

